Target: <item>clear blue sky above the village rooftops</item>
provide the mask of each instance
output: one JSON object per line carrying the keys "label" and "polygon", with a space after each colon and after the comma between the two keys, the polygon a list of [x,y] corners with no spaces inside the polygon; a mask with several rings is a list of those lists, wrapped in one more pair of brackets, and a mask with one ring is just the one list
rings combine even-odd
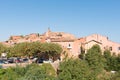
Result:
{"label": "clear blue sky above the village rooftops", "polygon": [[120,42],[120,0],[0,0],[0,41],[11,35],[68,32]]}

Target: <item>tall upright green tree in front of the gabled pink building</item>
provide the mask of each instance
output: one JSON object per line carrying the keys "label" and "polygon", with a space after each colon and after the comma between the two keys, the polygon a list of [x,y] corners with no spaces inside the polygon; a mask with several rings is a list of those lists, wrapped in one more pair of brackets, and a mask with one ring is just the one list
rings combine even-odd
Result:
{"label": "tall upright green tree in front of the gabled pink building", "polygon": [[91,68],[92,75],[94,75],[94,77],[97,77],[104,67],[104,60],[102,57],[100,46],[93,45],[93,47],[87,51],[87,54],[85,55],[85,60],[88,62]]}

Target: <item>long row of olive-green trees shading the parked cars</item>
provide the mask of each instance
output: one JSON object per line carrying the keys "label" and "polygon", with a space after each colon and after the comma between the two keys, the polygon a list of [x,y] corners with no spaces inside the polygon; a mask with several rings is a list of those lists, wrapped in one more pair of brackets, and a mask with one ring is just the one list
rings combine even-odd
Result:
{"label": "long row of olive-green trees shading the parked cars", "polygon": [[0,44],[0,53],[7,53],[7,57],[38,56],[56,59],[61,52],[61,46],[54,43],[24,42],[10,47]]}

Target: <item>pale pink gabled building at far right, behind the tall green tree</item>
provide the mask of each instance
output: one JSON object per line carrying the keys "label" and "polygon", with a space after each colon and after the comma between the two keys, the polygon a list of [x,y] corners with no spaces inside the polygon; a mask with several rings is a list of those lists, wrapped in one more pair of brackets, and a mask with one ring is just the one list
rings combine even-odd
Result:
{"label": "pale pink gabled building at far right, behind the tall green tree", "polygon": [[110,41],[108,37],[102,36],[99,34],[92,34],[90,36],[85,37],[85,50],[87,51],[94,44],[98,44],[101,47],[101,50],[110,50],[112,54],[118,55],[120,53],[120,44]]}

